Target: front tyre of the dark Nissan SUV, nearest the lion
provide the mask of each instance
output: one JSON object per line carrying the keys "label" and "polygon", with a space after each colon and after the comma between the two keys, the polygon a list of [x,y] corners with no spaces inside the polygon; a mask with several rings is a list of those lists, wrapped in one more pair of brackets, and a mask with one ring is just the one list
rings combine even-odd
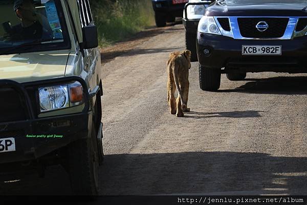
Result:
{"label": "front tyre of the dark Nissan SUV, nearest the lion", "polygon": [[214,91],[220,88],[221,69],[208,69],[200,65],[199,73],[202,90]]}

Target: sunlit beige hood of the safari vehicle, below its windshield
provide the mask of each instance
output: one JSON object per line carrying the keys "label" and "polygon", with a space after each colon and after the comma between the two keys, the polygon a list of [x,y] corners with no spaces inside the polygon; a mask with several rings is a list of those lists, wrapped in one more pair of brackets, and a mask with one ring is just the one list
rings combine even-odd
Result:
{"label": "sunlit beige hood of the safari vehicle, below its windshield", "polygon": [[69,51],[0,55],[0,79],[30,82],[64,77]]}

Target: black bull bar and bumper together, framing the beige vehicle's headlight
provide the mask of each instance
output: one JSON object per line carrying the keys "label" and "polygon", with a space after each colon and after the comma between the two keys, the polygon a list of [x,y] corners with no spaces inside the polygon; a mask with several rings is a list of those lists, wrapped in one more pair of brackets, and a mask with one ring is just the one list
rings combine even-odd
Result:
{"label": "black bull bar and bumper together, framing the beige vehicle's headlight", "polygon": [[[37,87],[41,85],[48,86],[74,81],[80,82],[83,87],[83,110],[73,114],[63,112],[62,115],[39,118],[37,94],[35,95],[31,90],[37,90]],[[89,93],[82,78],[64,77],[23,84],[11,80],[0,80],[0,91],[7,89],[16,91],[15,93],[23,104],[20,110],[25,112],[25,118],[5,120],[7,118],[1,116],[0,140],[13,138],[15,151],[1,152],[0,164],[35,160],[73,141],[91,136],[93,113],[90,110],[90,98],[95,96],[95,92]],[[9,101],[7,102],[6,99],[3,99],[1,103],[4,107],[15,109],[15,106],[8,104]]]}

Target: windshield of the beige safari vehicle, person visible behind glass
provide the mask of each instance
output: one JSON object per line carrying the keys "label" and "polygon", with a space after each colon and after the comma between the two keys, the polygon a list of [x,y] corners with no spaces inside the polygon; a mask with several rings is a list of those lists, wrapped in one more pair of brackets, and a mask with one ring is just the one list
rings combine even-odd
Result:
{"label": "windshield of the beige safari vehicle, person visible behind glass", "polygon": [[0,55],[67,47],[59,0],[0,0]]}

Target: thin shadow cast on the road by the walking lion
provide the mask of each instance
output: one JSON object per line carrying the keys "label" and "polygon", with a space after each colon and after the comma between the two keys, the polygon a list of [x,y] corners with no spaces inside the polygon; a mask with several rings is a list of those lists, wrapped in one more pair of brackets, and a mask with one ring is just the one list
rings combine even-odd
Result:
{"label": "thin shadow cast on the road by the walking lion", "polygon": [[261,117],[259,112],[255,110],[231,111],[231,112],[185,112],[186,118],[257,118]]}

